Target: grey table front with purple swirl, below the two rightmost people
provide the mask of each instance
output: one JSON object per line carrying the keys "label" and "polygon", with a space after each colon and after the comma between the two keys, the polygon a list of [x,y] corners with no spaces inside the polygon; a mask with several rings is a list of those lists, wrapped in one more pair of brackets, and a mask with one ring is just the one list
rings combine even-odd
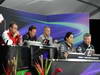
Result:
{"label": "grey table front with purple swirl, below the two rightmost people", "polygon": [[86,59],[52,59],[49,75],[57,68],[63,72],[58,75],[100,75],[100,60]]}

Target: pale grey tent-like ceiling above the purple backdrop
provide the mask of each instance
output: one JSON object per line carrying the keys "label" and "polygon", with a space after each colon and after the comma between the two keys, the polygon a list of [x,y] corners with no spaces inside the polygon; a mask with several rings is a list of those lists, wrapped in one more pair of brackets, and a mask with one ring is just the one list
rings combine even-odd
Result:
{"label": "pale grey tent-like ceiling above the purple backdrop", "polygon": [[1,6],[43,15],[89,13],[100,19],[100,0],[5,0]]}

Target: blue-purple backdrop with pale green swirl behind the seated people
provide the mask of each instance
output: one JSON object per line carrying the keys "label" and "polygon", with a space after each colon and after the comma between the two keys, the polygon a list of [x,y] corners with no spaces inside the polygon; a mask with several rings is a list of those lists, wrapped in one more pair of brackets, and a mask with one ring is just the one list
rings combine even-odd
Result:
{"label": "blue-purple backdrop with pale green swirl behind the seated people", "polygon": [[37,27],[37,37],[42,34],[44,26],[50,26],[51,36],[60,41],[63,40],[66,32],[73,32],[75,44],[82,41],[84,33],[89,32],[89,15],[86,13],[40,15],[4,7],[0,7],[0,13],[3,14],[6,21],[6,23],[0,24],[1,33],[4,30],[4,25],[6,24],[6,28],[8,28],[11,21],[15,21],[19,25],[19,31],[22,35],[27,33],[31,25]]}

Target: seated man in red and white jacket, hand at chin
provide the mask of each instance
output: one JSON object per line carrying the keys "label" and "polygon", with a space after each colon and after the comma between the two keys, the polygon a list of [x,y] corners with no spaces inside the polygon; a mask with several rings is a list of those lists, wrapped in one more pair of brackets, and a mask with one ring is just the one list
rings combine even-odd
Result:
{"label": "seated man in red and white jacket, hand at chin", "polygon": [[7,45],[19,45],[22,43],[21,35],[19,34],[16,23],[11,23],[9,25],[9,29],[3,32],[2,39]]}

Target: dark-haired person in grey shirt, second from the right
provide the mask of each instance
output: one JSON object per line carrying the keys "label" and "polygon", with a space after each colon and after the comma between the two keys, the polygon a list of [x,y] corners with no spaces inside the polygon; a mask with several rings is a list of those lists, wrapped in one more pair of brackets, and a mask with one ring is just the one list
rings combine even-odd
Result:
{"label": "dark-haired person in grey shirt, second from the right", "polygon": [[75,52],[73,48],[73,33],[66,33],[64,40],[65,41],[60,44],[60,58],[67,58],[69,52]]}

